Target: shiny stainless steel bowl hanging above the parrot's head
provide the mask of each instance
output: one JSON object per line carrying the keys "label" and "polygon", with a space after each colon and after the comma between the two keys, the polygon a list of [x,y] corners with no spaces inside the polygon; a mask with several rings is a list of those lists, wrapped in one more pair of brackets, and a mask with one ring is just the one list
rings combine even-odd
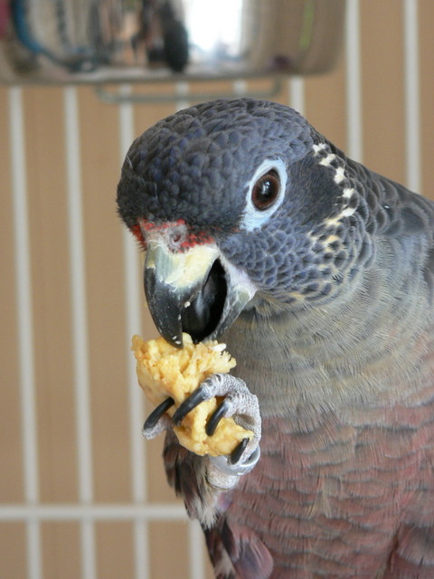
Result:
{"label": "shiny stainless steel bowl hanging above the parrot's head", "polygon": [[344,0],[12,0],[0,82],[325,72],[343,28]]}

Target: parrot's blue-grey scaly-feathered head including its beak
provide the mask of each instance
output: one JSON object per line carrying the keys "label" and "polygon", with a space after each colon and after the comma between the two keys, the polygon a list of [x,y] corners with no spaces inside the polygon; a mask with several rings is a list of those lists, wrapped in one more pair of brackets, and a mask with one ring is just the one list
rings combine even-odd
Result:
{"label": "parrot's blue-grey scaly-feathered head including its beak", "polygon": [[165,339],[218,337],[246,308],[324,303],[369,259],[346,159],[293,109],[215,100],[135,140],[118,212],[146,252]]}

